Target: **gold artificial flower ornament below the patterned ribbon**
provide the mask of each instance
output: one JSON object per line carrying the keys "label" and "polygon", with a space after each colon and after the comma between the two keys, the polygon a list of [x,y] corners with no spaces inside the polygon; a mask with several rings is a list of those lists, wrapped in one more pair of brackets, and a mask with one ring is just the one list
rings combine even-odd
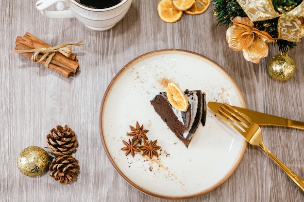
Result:
{"label": "gold artificial flower ornament below the patterned ribbon", "polygon": [[267,43],[274,42],[269,33],[254,28],[249,17],[231,18],[233,25],[226,32],[228,46],[234,51],[243,51],[247,61],[259,63],[268,56]]}

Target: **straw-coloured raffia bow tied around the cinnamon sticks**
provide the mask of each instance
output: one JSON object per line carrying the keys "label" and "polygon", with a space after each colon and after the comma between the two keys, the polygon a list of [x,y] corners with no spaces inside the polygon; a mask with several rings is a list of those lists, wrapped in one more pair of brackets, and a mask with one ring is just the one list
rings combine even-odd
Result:
{"label": "straw-coloured raffia bow tied around the cinnamon sticks", "polygon": [[[12,53],[34,52],[34,54],[32,55],[32,58],[31,58],[32,61],[33,62],[41,62],[45,58],[47,58],[44,66],[48,67],[56,52],[60,52],[61,54],[63,54],[64,56],[66,56],[68,58],[72,53],[72,47],[71,46],[80,47],[83,44],[84,44],[83,41],[80,41],[78,43],[68,42],[68,43],[60,44],[60,45],[55,46],[55,47],[42,47],[42,48],[35,48],[35,49],[28,49],[28,50],[14,50],[14,51],[12,51]],[[43,54],[43,56],[40,58],[40,60],[37,60],[38,55],[40,53]]]}

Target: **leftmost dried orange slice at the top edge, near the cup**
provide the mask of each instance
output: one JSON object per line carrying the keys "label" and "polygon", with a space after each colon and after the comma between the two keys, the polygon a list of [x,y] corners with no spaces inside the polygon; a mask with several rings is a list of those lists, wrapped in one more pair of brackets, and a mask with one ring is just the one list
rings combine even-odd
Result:
{"label": "leftmost dried orange slice at the top edge, near the cup", "polygon": [[165,22],[177,22],[183,16],[183,11],[174,8],[172,0],[161,0],[157,4],[157,13],[160,19]]}

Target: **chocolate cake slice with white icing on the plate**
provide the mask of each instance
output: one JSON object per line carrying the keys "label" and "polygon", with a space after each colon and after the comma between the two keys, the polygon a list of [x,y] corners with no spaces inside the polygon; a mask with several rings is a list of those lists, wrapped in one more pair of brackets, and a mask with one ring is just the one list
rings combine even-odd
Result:
{"label": "chocolate cake slice with white icing on the plate", "polygon": [[168,125],[172,132],[188,147],[192,136],[203,121],[203,94],[200,90],[185,91],[189,102],[187,111],[175,109],[168,100],[167,93],[157,94],[151,104],[157,114]]}

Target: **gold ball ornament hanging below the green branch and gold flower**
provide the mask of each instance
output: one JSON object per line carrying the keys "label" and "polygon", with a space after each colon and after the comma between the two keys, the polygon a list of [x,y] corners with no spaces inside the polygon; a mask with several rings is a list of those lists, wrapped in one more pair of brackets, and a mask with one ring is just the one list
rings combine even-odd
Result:
{"label": "gold ball ornament hanging below the green branch and gold flower", "polygon": [[279,81],[285,81],[291,78],[296,72],[296,69],[296,62],[287,54],[274,56],[268,64],[270,77]]}

